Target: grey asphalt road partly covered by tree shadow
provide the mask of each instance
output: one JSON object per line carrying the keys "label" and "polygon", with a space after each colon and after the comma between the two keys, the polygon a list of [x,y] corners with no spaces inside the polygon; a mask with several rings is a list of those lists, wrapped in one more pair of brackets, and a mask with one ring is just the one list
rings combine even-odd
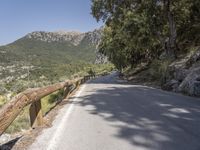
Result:
{"label": "grey asphalt road partly covered by tree shadow", "polygon": [[200,99],[117,79],[82,85],[31,150],[200,150]]}

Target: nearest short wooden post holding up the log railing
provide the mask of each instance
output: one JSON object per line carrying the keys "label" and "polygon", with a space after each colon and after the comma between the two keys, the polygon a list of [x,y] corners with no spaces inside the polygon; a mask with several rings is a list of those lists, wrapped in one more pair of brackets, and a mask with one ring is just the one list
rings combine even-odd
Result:
{"label": "nearest short wooden post holding up the log railing", "polygon": [[31,127],[35,128],[43,125],[41,100],[33,102],[29,109]]}

